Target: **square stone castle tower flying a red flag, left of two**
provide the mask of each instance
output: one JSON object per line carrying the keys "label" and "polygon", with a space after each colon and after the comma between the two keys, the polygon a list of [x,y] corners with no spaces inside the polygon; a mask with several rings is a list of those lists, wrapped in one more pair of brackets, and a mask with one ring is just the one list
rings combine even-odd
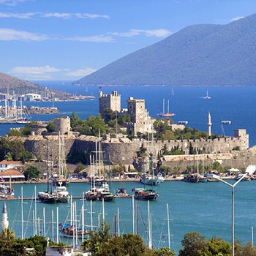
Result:
{"label": "square stone castle tower flying a red flag, left of two", "polygon": [[112,91],[111,94],[103,94],[99,91],[99,113],[102,118],[105,117],[105,108],[110,108],[113,111],[121,111],[121,96],[117,91]]}

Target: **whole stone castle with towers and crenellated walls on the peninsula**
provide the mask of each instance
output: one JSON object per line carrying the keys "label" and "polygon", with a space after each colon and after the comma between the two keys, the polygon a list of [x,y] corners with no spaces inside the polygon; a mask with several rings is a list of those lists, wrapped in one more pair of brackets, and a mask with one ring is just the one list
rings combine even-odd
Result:
{"label": "whole stone castle with towers and crenellated walls on the peninsula", "polygon": [[[105,108],[116,111],[117,114],[127,113],[131,116],[131,123],[127,124],[127,129],[134,129],[134,132],[151,132],[154,119],[148,116],[145,108],[145,100],[127,99],[127,109],[121,109],[121,96],[117,91],[112,94],[102,94],[99,91],[99,113],[105,115]],[[68,116],[56,118],[55,132],[49,134],[43,132],[42,125],[37,124],[33,127],[33,132],[29,138],[25,138],[24,146],[39,159],[47,159],[47,140],[49,151],[53,152],[53,158],[58,157],[59,152],[59,133],[64,138],[65,156],[69,154],[90,154],[96,151],[101,144],[102,151],[105,153],[105,159],[113,164],[132,165],[137,157],[137,152],[141,146],[149,150],[151,146],[147,140],[134,138],[129,140],[125,136],[103,135],[97,138],[91,135],[79,135],[78,132],[72,132],[70,127],[70,118]],[[208,113],[208,136],[211,136],[211,113]],[[182,129],[184,126],[173,124],[173,129]],[[37,130],[38,129],[38,130]],[[45,129],[46,130],[46,129]],[[11,139],[11,138],[10,138]],[[22,138],[24,140],[24,138]],[[179,166],[186,168],[188,162],[194,155],[189,155],[189,148],[195,148],[197,151],[203,151],[200,158],[211,161],[222,161],[226,165],[246,166],[255,164],[255,152],[249,149],[249,135],[245,129],[236,129],[233,137],[200,140],[159,140],[154,141],[154,156],[162,156],[163,148],[167,147],[169,151],[173,148],[182,148],[184,154],[181,156],[163,156],[161,161],[165,165]],[[239,150],[234,150],[238,148]]]}

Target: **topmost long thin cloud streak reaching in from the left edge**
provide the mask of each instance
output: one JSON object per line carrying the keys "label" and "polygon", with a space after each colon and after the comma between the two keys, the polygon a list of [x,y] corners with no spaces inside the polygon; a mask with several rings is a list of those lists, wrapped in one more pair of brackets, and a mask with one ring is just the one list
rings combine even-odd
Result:
{"label": "topmost long thin cloud streak reaching in from the left edge", "polygon": [[[0,4],[1,1],[0,0]],[[21,18],[28,19],[33,17],[41,17],[41,18],[61,18],[61,19],[69,19],[69,18],[84,18],[84,19],[96,19],[96,18],[105,18],[110,19],[108,15],[100,15],[96,13],[69,13],[69,12],[29,12],[29,13],[15,13],[15,12],[0,12],[0,18]]]}

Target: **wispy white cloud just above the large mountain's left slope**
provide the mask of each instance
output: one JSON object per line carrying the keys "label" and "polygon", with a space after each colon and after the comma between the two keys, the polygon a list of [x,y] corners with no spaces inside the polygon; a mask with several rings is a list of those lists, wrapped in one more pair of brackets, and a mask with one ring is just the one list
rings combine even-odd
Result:
{"label": "wispy white cloud just above the large mountain's left slope", "polygon": [[119,37],[135,37],[139,35],[145,35],[147,37],[167,37],[172,33],[167,29],[130,29],[128,32],[114,32],[110,34]]}

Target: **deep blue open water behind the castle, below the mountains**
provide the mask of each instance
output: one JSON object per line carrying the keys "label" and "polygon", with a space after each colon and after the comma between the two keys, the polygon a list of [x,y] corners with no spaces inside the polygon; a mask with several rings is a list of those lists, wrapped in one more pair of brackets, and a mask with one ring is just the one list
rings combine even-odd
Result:
{"label": "deep blue open water behind the castle, below the mountains", "polygon": [[[73,111],[82,119],[96,116],[99,112],[99,86],[71,86],[68,81],[36,81],[48,88],[67,91],[71,94],[93,95],[95,100],[79,102],[54,102],[59,108],[58,115],[34,115],[33,120],[49,121],[56,116],[70,116]],[[233,136],[234,129],[246,129],[249,146],[256,143],[256,87],[255,86],[102,86],[103,94],[118,91],[121,94],[121,108],[127,108],[127,99],[145,99],[149,115],[159,118],[162,112],[162,99],[170,101],[170,111],[175,113],[173,121],[188,121],[187,126],[207,131],[208,112],[211,112],[211,132]],[[203,99],[208,91],[211,99]],[[173,95],[174,94],[174,95]],[[1,102],[3,105],[4,102]],[[24,105],[52,107],[53,102],[25,102]],[[167,110],[167,105],[165,106]],[[222,120],[231,124],[221,125]],[[1,124],[0,135],[5,135],[14,125]],[[17,127],[20,127],[18,125]]]}

